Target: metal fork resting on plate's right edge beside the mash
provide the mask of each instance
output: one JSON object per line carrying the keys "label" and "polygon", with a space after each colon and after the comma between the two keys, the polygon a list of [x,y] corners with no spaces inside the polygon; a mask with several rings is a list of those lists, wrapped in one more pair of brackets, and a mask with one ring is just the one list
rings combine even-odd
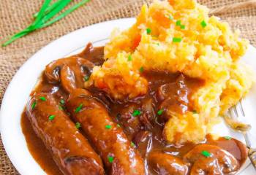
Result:
{"label": "metal fork resting on plate's right edge beside the mash", "polygon": [[252,163],[252,166],[256,171],[256,149],[252,148],[251,141],[249,139],[248,131],[251,129],[251,125],[246,123],[241,123],[238,121],[238,117],[245,117],[243,108],[243,99],[238,102],[235,106],[231,107],[227,114],[224,115],[225,122],[234,131],[242,133],[246,142],[246,147],[249,149],[248,156]]}

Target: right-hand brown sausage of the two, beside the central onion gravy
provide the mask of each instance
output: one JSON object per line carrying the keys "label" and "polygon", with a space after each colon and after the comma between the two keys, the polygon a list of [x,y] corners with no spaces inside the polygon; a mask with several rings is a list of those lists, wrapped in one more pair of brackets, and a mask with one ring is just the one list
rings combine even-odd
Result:
{"label": "right-hand brown sausage of the two, beside the central onion gravy", "polygon": [[74,90],[67,100],[67,110],[81,124],[110,174],[145,174],[143,159],[134,145],[89,91]]}

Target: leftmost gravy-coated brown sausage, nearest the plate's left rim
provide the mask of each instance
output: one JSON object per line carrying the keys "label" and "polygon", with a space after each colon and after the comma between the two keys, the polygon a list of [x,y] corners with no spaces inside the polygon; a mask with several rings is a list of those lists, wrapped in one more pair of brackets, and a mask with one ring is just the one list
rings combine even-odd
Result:
{"label": "leftmost gravy-coated brown sausage, nearest the plate's left rim", "polygon": [[52,95],[37,93],[26,106],[31,125],[63,174],[104,174],[102,160]]}

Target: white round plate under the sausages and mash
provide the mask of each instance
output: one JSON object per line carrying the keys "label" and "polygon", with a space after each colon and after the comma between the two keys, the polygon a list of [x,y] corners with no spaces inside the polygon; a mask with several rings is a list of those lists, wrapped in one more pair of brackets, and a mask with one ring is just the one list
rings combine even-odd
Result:
{"label": "white round plate under the sausages and mash", "polygon": [[[94,45],[103,45],[108,41],[108,36],[110,36],[113,28],[128,28],[132,23],[135,23],[134,18],[111,20],[81,28],[78,31],[62,36],[33,55],[12,78],[1,104],[0,129],[1,139],[7,155],[20,174],[45,174],[30,155],[20,128],[20,114],[23,112],[23,108],[29,98],[29,93],[34,88],[45,66],[50,61],[79,52],[88,42],[92,42]],[[256,49],[250,46],[243,59],[256,70],[255,55]],[[256,86],[252,88],[246,98],[246,105],[244,105],[246,106],[247,120],[252,124],[251,133],[254,133],[254,138],[256,138],[256,117],[254,115],[256,114],[256,108],[253,107],[253,104],[256,104]],[[243,141],[239,134],[233,133],[223,124],[217,125],[215,131],[220,135],[234,136]],[[255,174],[255,171],[252,167],[249,167],[241,172],[241,174]]]}

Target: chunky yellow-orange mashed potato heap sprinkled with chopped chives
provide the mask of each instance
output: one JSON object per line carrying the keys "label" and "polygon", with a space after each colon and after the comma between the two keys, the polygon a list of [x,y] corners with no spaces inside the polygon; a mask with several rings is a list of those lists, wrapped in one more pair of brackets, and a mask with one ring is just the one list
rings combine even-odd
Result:
{"label": "chunky yellow-orange mashed potato heap sprinkled with chopped chives", "polygon": [[167,112],[171,117],[165,125],[167,141],[201,141],[219,112],[236,104],[252,85],[251,72],[238,63],[249,42],[238,35],[194,0],[154,1],[142,7],[131,28],[113,31],[106,61],[94,68],[86,86],[124,99],[147,92],[141,69],[203,79],[205,85],[192,95],[197,112]]}

